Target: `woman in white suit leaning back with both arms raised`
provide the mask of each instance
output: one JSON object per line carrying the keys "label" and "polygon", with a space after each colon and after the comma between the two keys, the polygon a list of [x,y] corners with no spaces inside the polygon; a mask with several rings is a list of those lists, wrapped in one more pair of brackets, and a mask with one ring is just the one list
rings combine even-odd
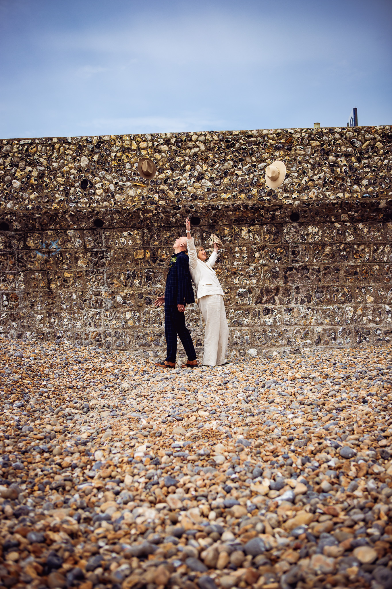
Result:
{"label": "woman in white suit leaning back with both arms raised", "polygon": [[225,359],[229,327],[227,326],[225,303],[223,303],[224,293],[212,269],[216,262],[218,247],[214,243],[214,251],[206,262],[207,254],[203,247],[195,247],[195,242],[190,234],[188,217],[186,217],[186,239],[190,275],[196,287],[197,306],[206,323],[203,365],[222,366],[229,364]]}

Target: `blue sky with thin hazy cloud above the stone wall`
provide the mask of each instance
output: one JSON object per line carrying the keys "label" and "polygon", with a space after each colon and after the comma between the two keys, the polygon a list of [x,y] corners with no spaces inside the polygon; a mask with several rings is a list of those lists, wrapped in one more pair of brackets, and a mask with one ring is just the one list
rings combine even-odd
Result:
{"label": "blue sky with thin hazy cloud above the stone wall", "polygon": [[0,137],[392,123],[392,2],[0,0]]}

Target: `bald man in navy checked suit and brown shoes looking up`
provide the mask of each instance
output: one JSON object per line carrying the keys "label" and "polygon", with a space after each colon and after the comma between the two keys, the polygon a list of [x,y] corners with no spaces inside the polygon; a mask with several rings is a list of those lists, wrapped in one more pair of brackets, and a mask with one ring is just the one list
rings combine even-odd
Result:
{"label": "bald man in navy checked suit and brown shoes looking up", "polygon": [[170,258],[169,273],[167,274],[165,296],[155,300],[154,305],[160,307],[165,303],[165,336],[166,360],[156,362],[161,368],[175,368],[177,356],[177,335],[184,346],[187,362],[182,368],[197,366],[196,352],[192,337],[185,325],[185,306],[194,303],[192,279],[189,272],[189,260],[186,237],[177,237],[173,244],[174,255]]}

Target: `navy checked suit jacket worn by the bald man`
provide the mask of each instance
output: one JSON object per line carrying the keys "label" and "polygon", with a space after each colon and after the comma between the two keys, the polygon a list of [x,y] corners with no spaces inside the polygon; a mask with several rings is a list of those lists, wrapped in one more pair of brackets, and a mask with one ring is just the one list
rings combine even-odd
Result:
{"label": "navy checked suit jacket worn by the bald man", "polygon": [[165,305],[187,305],[195,302],[189,258],[185,252],[173,254],[176,262],[170,264],[166,278]]}

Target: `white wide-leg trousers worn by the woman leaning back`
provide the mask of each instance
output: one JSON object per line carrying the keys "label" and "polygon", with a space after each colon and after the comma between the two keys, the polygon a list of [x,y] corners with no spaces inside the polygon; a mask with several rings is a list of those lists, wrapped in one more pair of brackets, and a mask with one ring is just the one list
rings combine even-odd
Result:
{"label": "white wide-leg trousers worn by the woman leaning back", "polygon": [[220,366],[226,362],[229,326],[222,294],[207,294],[197,300],[206,323],[204,334],[203,364]]}

